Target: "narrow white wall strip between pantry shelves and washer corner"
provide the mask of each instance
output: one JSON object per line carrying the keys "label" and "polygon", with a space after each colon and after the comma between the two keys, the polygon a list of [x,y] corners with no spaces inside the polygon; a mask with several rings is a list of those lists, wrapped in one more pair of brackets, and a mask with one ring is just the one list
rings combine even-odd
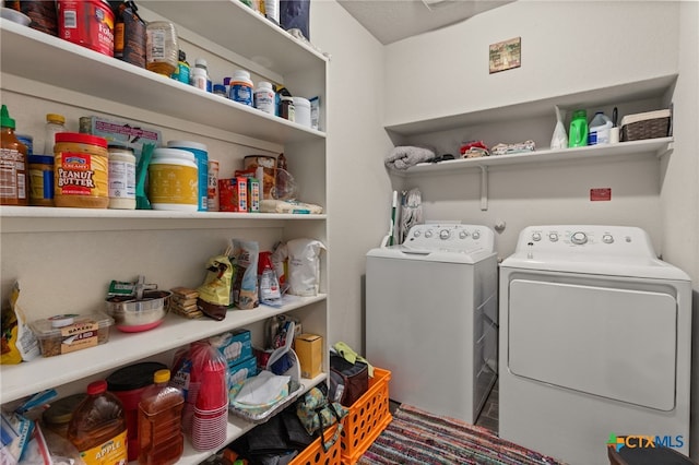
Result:
{"label": "narrow white wall strip between pantry shelves and washer corner", "polygon": [[328,81],[330,341],[363,350],[365,254],[388,230],[383,46],[335,1],[311,4],[311,41],[332,55]]}

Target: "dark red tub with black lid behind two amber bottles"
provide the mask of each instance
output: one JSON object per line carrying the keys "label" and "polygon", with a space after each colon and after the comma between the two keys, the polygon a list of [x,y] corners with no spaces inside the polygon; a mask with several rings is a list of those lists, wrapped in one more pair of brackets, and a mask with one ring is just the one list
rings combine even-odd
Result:
{"label": "dark red tub with black lid behind two amber bottles", "polygon": [[107,389],[119,397],[127,418],[129,462],[139,458],[139,402],[143,392],[153,385],[153,375],[167,366],[157,361],[129,365],[107,377]]}

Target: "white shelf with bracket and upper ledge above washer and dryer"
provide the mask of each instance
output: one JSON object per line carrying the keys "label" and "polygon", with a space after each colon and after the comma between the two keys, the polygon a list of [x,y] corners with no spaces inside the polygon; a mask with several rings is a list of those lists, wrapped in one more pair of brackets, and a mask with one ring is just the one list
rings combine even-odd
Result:
{"label": "white shelf with bracket and upper ledge above washer and dryer", "polygon": [[[498,124],[521,124],[523,121],[553,115],[555,106],[571,110],[577,108],[601,108],[618,103],[653,102],[666,96],[677,75],[662,75],[638,82],[612,85],[604,88],[585,90],[569,95],[552,96],[534,102],[513,103],[495,108],[473,108],[458,115],[446,115],[415,121],[390,122],[384,126],[396,143],[419,141],[426,134],[446,134],[465,128]],[[655,108],[648,108],[651,110]],[[553,124],[552,124],[553,127]],[[537,144],[538,145],[538,144]],[[620,142],[618,144],[592,145],[565,150],[536,150],[529,153],[496,155],[477,158],[457,158],[439,163],[420,163],[405,170],[390,169],[392,177],[415,181],[424,176],[459,176],[467,170],[481,171],[481,210],[488,210],[488,174],[505,166],[565,163],[602,163],[639,157],[661,158],[673,150],[673,138],[648,139]]]}

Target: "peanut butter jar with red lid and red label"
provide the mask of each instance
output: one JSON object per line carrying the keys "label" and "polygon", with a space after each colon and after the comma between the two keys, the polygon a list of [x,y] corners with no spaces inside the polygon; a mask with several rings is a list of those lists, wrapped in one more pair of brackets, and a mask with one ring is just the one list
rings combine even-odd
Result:
{"label": "peanut butter jar with red lid and red label", "polygon": [[56,206],[109,206],[107,140],[78,132],[59,132],[54,146]]}

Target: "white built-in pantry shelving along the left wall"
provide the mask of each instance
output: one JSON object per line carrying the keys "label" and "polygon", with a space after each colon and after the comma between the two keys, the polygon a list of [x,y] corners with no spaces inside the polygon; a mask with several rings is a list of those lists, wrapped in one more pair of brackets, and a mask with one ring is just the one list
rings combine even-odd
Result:
{"label": "white built-in pantry shelving along the left wall", "polygon": [[[180,1],[143,1],[140,5],[143,10],[162,15],[180,26],[187,39],[202,49],[215,49],[227,60],[232,60],[230,57],[239,59],[230,61],[232,69],[254,67],[253,71],[260,75],[283,83],[289,88],[298,88],[303,93],[312,92],[312,95],[321,96],[321,102],[324,102],[328,59],[310,45],[295,39],[241,2],[206,1],[194,7],[192,3]],[[55,103],[94,108],[118,119],[131,115],[138,120],[147,121],[145,118],[153,118],[153,124],[175,131],[187,130],[198,134],[200,139],[212,138],[269,152],[279,152],[282,147],[289,162],[294,163],[298,172],[297,179],[301,180],[301,193],[306,194],[304,200],[325,204],[327,143],[325,133],[322,131],[301,127],[213,94],[202,93],[147,70],[4,20],[0,20],[0,44],[1,91],[3,94],[13,94],[16,100],[38,98],[47,104],[47,108]],[[104,243],[102,238],[105,235],[112,238],[133,235],[141,238],[139,240],[150,235],[158,235],[158,240],[162,240],[164,234],[173,231],[179,236],[189,235],[192,241],[197,241],[200,236],[211,239],[210,235],[214,233],[223,237],[234,236],[235,233],[244,236],[259,233],[268,241],[270,237],[288,240],[312,236],[327,245],[327,219],[325,214],[2,206],[2,267],[3,271],[11,270],[13,274],[3,274],[2,286],[5,290],[14,278],[22,278],[26,283],[27,279],[32,279],[33,271],[42,266],[43,262],[50,263],[51,269],[60,269],[58,264],[50,262],[50,255],[45,257],[45,252],[37,250],[32,255],[31,247],[28,254],[19,255],[16,250],[25,250],[27,238],[35,238],[42,247],[58,248],[71,238],[80,237],[80,250],[71,265],[93,266],[95,274],[106,278],[110,273],[133,271],[128,267],[133,264],[97,263],[95,266],[86,261],[85,258],[90,254],[99,258],[105,250],[109,251],[110,255],[119,254],[119,251],[109,250],[109,246]],[[153,255],[149,255],[147,246],[140,247],[140,250],[144,251],[142,260],[163,261],[158,271],[164,276],[173,274],[174,267],[179,264],[176,257],[169,257],[176,254],[164,255],[162,251],[156,254],[154,251]],[[201,257],[203,262],[208,257]],[[81,383],[86,385],[91,377],[97,373],[168,354],[191,342],[233,329],[250,325],[259,327],[265,319],[280,313],[304,317],[304,329],[321,334],[325,339],[323,349],[327,351],[329,296],[325,294],[328,273],[324,260],[323,258],[321,264],[321,294],[316,297],[294,298],[282,308],[261,306],[254,310],[230,310],[221,322],[209,319],[187,320],[169,314],[162,325],[143,333],[127,334],[112,329],[109,341],[97,347],[38,358],[15,366],[1,366],[0,403],[12,403],[48,388],[75,386]],[[114,270],[108,269],[109,266],[114,266]],[[67,274],[70,272],[67,270]],[[64,277],[61,276],[57,281],[60,283],[62,278]],[[200,276],[196,276],[194,281],[199,278]],[[108,281],[106,283],[108,284]],[[58,287],[60,284],[47,282],[43,290],[46,295],[34,300],[44,302],[43,307],[51,307],[56,298],[54,296],[63,291]],[[75,288],[75,293],[78,291],[79,287]],[[96,308],[102,305],[104,302],[86,303],[87,307]],[[34,309],[28,310],[32,312]],[[42,314],[40,318],[45,315]],[[324,371],[328,371],[328,361],[324,362]],[[325,378],[325,373],[322,373],[312,380],[303,379],[301,382],[307,390]],[[253,427],[253,424],[230,416],[226,443]],[[215,452],[193,451],[187,443],[180,463],[196,464]]]}

